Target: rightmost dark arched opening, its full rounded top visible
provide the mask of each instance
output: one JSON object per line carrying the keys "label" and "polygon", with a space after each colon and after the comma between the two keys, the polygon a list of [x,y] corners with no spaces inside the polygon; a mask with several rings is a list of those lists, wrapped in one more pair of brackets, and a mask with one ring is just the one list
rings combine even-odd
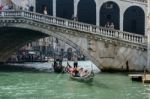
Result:
{"label": "rightmost dark arched opening, its full rounded top visible", "polygon": [[145,14],[138,6],[129,7],[124,13],[123,30],[144,35]]}

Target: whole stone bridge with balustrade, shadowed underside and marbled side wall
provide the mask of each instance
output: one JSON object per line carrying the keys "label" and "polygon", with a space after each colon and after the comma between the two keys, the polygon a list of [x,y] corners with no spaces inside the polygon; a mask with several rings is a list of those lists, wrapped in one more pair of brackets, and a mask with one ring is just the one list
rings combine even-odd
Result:
{"label": "whole stone bridge with balustrade, shadowed underside and marbled side wall", "polygon": [[27,11],[1,12],[0,61],[26,43],[49,35],[80,50],[100,69],[142,70],[147,63],[143,35]]}

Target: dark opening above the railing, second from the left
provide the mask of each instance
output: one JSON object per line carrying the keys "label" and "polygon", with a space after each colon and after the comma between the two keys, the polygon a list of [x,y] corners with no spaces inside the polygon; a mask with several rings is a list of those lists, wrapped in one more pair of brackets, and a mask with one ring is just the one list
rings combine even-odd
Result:
{"label": "dark opening above the railing, second from the left", "polygon": [[56,0],[56,16],[71,19],[74,13],[74,0]]}

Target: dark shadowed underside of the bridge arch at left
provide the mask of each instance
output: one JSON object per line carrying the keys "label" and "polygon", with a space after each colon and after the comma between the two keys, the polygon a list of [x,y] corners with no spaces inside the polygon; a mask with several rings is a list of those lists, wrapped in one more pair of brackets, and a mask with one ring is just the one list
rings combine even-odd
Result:
{"label": "dark shadowed underside of the bridge arch at left", "polygon": [[0,33],[0,62],[5,62],[19,48],[32,40],[46,36],[40,32],[15,27],[0,27]]}

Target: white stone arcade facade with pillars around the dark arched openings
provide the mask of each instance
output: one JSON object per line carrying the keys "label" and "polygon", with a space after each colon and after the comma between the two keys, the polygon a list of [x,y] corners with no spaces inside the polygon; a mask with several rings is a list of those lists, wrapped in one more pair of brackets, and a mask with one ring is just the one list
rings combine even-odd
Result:
{"label": "white stone arcade facade with pillars around the dark arched openings", "polygon": [[[32,0],[33,5],[36,8],[36,0]],[[74,0],[74,16],[77,15],[77,6],[80,0]],[[147,27],[147,1],[146,0],[94,0],[96,3],[96,25],[100,25],[100,16],[99,12],[101,9],[101,6],[109,1],[112,1],[118,5],[120,8],[120,30],[123,31],[123,19],[124,19],[124,13],[125,11],[131,7],[131,6],[138,6],[140,7],[145,14],[145,27]],[[56,0],[53,0],[53,16],[56,16]],[[145,35],[147,35],[147,29],[145,28]]]}

